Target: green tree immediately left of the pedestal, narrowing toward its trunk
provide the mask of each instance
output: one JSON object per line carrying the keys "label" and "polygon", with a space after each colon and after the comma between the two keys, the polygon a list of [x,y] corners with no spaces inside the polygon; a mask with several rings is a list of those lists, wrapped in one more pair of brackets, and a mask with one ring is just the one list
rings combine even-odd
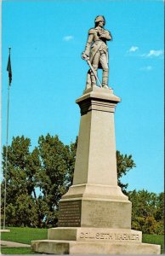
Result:
{"label": "green tree immediately left of the pedestal, narrowing toward its trunk", "polygon": [[[56,224],[61,195],[64,195],[71,180],[71,152],[58,136],[41,136],[38,140],[41,170],[38,172],[38,187],[41,189],[43,214],[46,224]],[[71,170],[70,170],[71,169]]]}

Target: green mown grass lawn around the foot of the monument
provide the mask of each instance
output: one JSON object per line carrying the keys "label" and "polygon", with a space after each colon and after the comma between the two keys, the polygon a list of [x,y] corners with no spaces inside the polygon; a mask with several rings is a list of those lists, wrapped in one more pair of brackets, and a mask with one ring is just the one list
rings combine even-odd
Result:
{"label": "green mown grass lawn around the foot of the monument", "polygon": [[[32,229],[32,228],[8,228],[10,233],[2,233],[1,240],[15,241],[20,243],[31,244],[31,240],[47,239],[47,229]],[[143,235],[143,242],[160,244],[161,253],[163,253],[164,236],[157,235]],[[3,254],[37,254],[31,251],[31,248],[25,247],[3,247],[1,249]]]}

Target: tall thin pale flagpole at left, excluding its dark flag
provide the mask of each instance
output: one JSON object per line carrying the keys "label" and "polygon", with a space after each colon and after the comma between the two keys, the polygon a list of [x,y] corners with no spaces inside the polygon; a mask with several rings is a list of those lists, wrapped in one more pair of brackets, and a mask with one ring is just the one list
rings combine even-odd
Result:
{"label": "tall thin pale flagpole at left, excluding its dark flag", "polygon": [[[11,48],[9,47],[9,55]],[[3,216],[3,230],[5,230],[6,222],[6,190],[7,190],[7,171],[8,171],[8,141],[9,141],[9,89],[10,79],[8,85],[8,107],[7,107],[7,132],[6,132],[6,160],[5,160],[5,172],[4,172],[4,216]]]}

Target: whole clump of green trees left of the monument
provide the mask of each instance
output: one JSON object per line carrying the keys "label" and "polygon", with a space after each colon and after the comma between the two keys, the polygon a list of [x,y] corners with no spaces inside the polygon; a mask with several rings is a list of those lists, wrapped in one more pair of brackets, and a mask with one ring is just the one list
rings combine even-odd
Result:
{"label": "whole clump of green trees left of the monument", "polygon": [[[30,151],[31,141],[14,137],[8,147],[6,223],[17,226],[55,225],[61,195],[72,181],[76,143],[64,145],[58,136],[38,139]],[[6,147],[3,147],[3,175]],[[3,221],[4,180],[2,183]]]}

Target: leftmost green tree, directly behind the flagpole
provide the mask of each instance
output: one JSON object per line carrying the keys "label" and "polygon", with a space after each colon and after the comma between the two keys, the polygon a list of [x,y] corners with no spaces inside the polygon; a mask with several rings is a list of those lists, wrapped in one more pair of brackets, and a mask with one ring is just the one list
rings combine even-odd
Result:
{"label": "leftmost green tree, directly behind the flagpole", "polygon": [[[8,168],[6,179],[6,223],[8,225],[36,224],[37,214],[36,207],[34,206],[34,198],[36,194],[36,174],[40,168],[40,161],[37,148],[34,148],[34,150],[30,153],[30,146],[30,139],[22,136],[14,137],[11,146],[8,147]],[[5,172],[5,161],[6,147],[3,147],[3,175]],[[32,196],[32,193],[34,196]],[[4,180],[2,183],[2,217],[4,204],[3,198]],[[24,212],[24,214],[20,214],[20,211],[22,211],[22,213]],[[35,224],[33,224],[34,220]]]}

